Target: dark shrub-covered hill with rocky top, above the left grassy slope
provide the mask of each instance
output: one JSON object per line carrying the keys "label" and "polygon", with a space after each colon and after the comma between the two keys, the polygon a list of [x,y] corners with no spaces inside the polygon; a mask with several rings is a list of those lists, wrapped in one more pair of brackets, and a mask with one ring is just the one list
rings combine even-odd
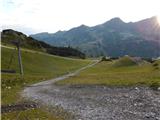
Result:
{"label": "dark shrub-covered hill with rocky top, above the left grassy slope", "polygon": [[65,57],[85,58],[85,54],[74,48],[55,47],[43,41],[35,40],[32,37],[28,37],[21,32],[14,31],[11,29],[3,30],[1,35],[2,35],[2,44],[4,45],[13,46],[14,42],[20,41],[22,48],[27,48],[30,50],[38,50],[42,52],[47,52],[49,54],[65,56]]}

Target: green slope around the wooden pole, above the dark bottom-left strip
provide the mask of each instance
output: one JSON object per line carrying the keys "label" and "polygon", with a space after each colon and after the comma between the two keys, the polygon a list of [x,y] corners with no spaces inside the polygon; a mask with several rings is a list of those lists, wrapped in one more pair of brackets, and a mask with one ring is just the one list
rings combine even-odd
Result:
{"label": "green slope around the wooden pole, above the dark bottom-left strip", "polygon": [[[22,86],[54,78],[90,63],[88,60],[70,59],[38,52],[22,51],[24,76],[19,75],[18,56],[13,49],[1,48],[1,69],[16,70],[16,74],[2,73],[2,104],[14,102],[16,91]],[[14,57],[10,64],[12,54]],[[11,87],[11,90],[7,88]],[[14,94],[12,93],[14,92]]]}

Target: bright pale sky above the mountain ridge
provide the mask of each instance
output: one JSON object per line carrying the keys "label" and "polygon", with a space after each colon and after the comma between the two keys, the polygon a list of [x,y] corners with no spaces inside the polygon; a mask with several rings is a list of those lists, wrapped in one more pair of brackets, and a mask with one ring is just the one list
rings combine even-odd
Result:
{"label": "bright pale sky above the mountain ridge", "polygon": [[113,17],[134,22],[160,16],[160,0],[0,0],[1,29],[54,33]]}

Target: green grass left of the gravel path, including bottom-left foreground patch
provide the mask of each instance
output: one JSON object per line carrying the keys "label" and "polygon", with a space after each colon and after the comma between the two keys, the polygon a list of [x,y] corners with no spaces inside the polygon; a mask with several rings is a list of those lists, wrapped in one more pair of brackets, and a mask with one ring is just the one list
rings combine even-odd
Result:
{"label": "green grass left of the gravel path, including bottom-left foreground patch", "polygon": [[[12,54],[12,49],[1,49],[1,69],[7,69]],[[22,51],[22,63],[24,67],[24,76],[21,77],[18,72],[17,53],[10,66],[10,69],[15,69],[16,74],[2,74],[2,103],[11,104],[16,102],[22,102],[19,92],[24,86],[40,82],[42,80],[54,78],[62,74],[74,71],[90,63],[88,60],[74,60],[67,59],[58,56],[51,56],[47,54],[41,54],[38,52]],[[27,110],[22,112],[14,112],[3,114],[2,119],[16,119],[20,113],[19,119],[25,120],[28,116],[29,119],[48,119],[59,120],[49,113],[41,110]]]}

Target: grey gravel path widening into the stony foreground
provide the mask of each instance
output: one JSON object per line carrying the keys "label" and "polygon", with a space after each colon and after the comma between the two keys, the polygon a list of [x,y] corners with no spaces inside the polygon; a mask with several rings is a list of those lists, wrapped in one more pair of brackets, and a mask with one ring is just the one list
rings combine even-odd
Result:
{"label": "grey gravel path widening into the stony foreground", "polygon": [[22,95],[45,105],[60,106],[73,113],[76,120],[160,120],[160,92],[148,87],[53,84],[94,64],[26,87]]}

